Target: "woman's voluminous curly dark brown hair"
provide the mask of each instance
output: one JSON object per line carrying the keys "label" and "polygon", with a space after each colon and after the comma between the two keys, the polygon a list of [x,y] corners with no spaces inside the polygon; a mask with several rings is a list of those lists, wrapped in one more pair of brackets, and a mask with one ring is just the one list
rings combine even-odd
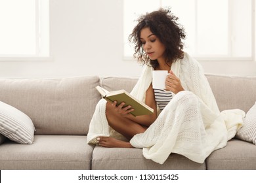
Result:
{"label": "woman's voluminous curly dark brown hair", "polygon": [[165,61],[171,65],[177,59],[182,59],[184,52],[182,51],[184,43],[183,39],[186,37],[184,28],[177,23],[177,16],[171,13],[170,8],[160,8],[154,12],[146,13],[140,16],[137,20],[138,24],[129,35],[129,41],[135,43],[134,58],[137,58],[140,63],[150,65],[154,68],[158,67],[158,61],[151,60],[142,48],[140,41],[140,31],[145,27],[149,27],[150,31],[154,33],[165,45]]}

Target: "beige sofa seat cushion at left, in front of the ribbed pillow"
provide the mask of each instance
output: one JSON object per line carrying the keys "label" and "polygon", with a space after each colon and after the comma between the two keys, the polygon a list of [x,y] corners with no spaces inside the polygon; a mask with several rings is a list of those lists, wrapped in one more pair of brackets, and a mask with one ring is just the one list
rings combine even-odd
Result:
{"label": "beige sofa seat cushion at left, in front of the ribbed pillow", "polygon": [[33,144],[6,141],[0,146],[0,169],[91,169],[93,146],[86,136],[35,135]]}

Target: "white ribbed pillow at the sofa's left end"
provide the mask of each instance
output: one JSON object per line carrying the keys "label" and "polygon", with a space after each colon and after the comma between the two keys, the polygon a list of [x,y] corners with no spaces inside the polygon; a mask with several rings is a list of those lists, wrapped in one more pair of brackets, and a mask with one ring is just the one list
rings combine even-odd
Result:
{"label": "white ribbed pillow at the sofa's left end", "polygon": [[32,144],[35,127],[30,117],[0,101],[0,133],[14,142]]}

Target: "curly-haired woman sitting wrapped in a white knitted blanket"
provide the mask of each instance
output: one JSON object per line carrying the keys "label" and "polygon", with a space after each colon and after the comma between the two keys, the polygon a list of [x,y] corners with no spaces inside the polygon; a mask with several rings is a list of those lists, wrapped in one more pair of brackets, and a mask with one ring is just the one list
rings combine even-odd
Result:
{"label": "curly-haired woman sitting wrapped in a white knitted blanket", "polygon": [[[182,51],[185,33],[177,20],[161,8],[141,16],[129,37],[135,43],[134,56],[145,66],[131,94],[154,108],[154,114],[134,117],[129,114],[132,106],[101,100],[90,124],[89,143],[143,148],[144,157],[158,163],[171,152],[203,163],[226,144],[228,133],[215,97],[198,61]],[[161,108],[152,88],[154,70],[169,73],[161,91],[167,103]]]}

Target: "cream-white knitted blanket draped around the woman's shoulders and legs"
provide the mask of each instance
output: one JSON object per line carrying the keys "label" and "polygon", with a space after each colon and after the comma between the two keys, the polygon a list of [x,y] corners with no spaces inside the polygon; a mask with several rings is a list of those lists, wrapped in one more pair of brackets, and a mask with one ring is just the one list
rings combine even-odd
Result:
{"label": "cream-white knitted blanket draped around the woman's shoulders and legs", "polygon": [[[213,150],[223,148],[236,135],[245,112],[239,109],[219,112],[201,65],[188,54],[173,63],[171,69],[186,91],[177,93],[154,124],[130,142],[143,148],[145,158],[161,164],[171,152],[203,163]],[[152,67],[146,66],[131,94],[144,102],[151,82]],[[108,126],[105,111],[106,101],[101,100],[91,120],[88,143],[96,143],[99,136],[122,138]]]}

